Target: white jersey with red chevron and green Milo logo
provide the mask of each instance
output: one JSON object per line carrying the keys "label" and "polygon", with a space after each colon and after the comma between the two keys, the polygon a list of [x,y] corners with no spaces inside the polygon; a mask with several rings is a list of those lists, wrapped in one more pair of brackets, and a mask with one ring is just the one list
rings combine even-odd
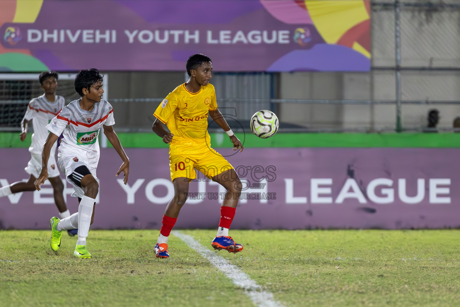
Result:
{"label": "white jersey with red chevron and green Milo logo", "polygon": [[57,136],[64,135],[57,159],[72,156],[91,169],[98,167],[100,129],[113,124],[113,108],[106,100],[95,103],[91,112],[82,110],[79,100],[75,100],[63,107],[46,128]]}

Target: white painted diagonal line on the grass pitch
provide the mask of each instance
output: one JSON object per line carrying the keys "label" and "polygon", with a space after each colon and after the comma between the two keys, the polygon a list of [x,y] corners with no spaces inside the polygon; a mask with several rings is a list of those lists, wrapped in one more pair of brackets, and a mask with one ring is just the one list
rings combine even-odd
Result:
{"label": "white painted diagonal line on the grass pitch", "polygon": [[209,260],[211,264],[217,267],[221,272],[233,281],[233,284],[244,289],[244,292],[249,296],[251,301],[259,307],[285,307],[279,301],[273,299],[273,294],[262,290],[262,287],[257,284],[237,266],[228,263],[223,257],[216,255],[210,249],[207,249],[196,241],[193,237],[182,232],[173,231],[173,235],[184,241],[190,248],[195,249],[204,258]]}

